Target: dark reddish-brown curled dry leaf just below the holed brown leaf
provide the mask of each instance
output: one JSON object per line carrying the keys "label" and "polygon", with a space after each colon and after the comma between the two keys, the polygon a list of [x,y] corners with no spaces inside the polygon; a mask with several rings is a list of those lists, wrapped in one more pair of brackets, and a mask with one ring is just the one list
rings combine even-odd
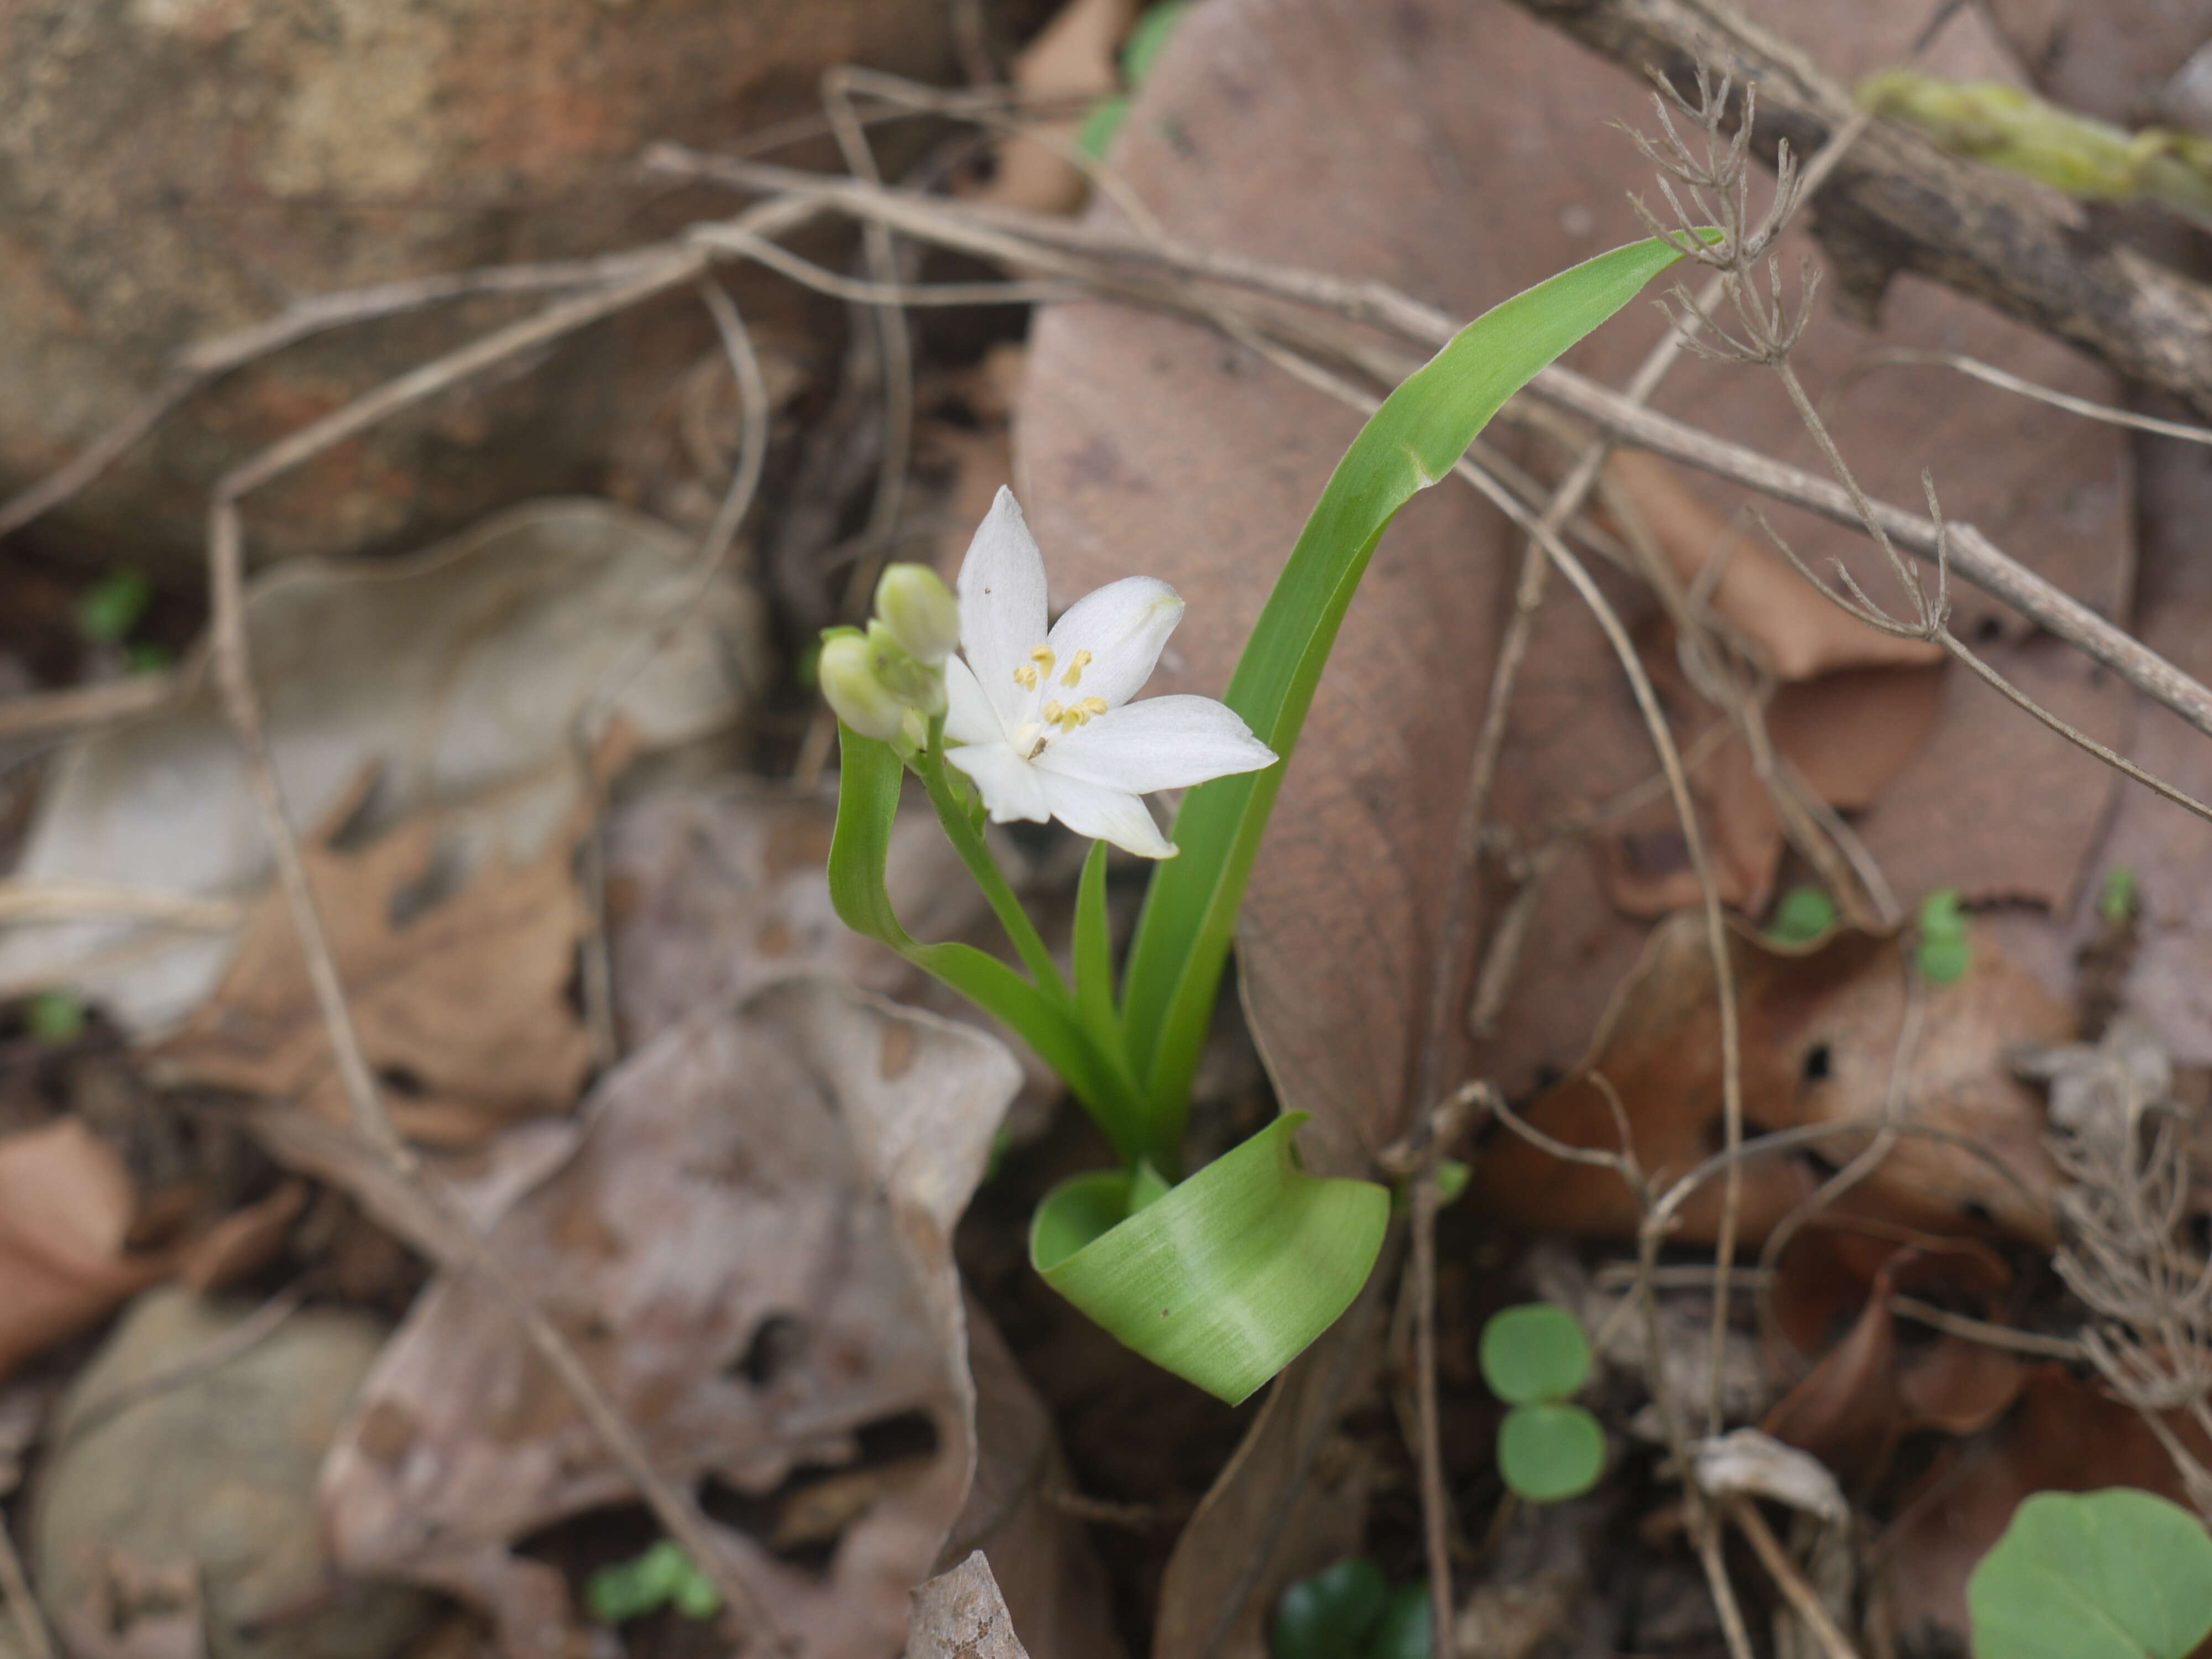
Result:
{"label": "dark reddish-brown curled dry leaf just below the holed brown leaf", "polygon": [[1889,1307],[1898,1294],[1944,1307],[1966,1298],[1980,1305],[1980,1318],[1995,1318],[2011,1272],[1982,1245],[1942,1239],[1900,1245],[1896,1237],[1812,1228],[1792,1241],[1776,1272],[1776,1329],[1801,1365],[1854,1307],[1858,1316],[1761,1429],[1814,1453],[1858,1493],[1882,1480],[1907,1433],[1986,1429],[2026,1380],[2020,1358],[1989,1343],[1949,1332],[1898,1340]]}

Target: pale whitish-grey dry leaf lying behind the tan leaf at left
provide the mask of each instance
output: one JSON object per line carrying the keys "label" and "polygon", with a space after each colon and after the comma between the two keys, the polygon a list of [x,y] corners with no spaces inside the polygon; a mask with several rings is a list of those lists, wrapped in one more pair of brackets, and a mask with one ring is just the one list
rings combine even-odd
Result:
{"label": "pale whitish-grey dry leaf lying behind the tan leaf at left", "polygon": [[[737,577],[701,591],[690,553],[655,520],[555,500],[407,560],[301,560],[257,577],[254,677],[299,832],[374,772],[356,832],[504,790],[500,838],[526,860],[582,794],[560,763],[599,697],[644,750],[737,721],[770,677],[765,608]],[[239,743],[201,677],[181,706],[71,745],[15,876],[252,898],[268,858]],[[133,1035],[159,1035],[206,1002],[237,947],[237,929],[18,925],[0,936],[0,987],[60,982]]]}

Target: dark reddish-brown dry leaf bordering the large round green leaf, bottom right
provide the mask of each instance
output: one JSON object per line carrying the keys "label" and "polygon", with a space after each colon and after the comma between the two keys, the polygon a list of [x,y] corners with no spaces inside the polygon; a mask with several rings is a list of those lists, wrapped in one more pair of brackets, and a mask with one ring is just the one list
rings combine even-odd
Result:
{"label": "dark reddish-brown dry leaf bordering the large round green leaf, bottom right", "polygon": [[[2183,1416],[2168,1427],[2197,1458],[2212,1442]],[[1898,1641],[1918,1650],[1964,1650],[1966,1575],[2037,1491],[2141,1486],[2188,1504],[2181,1478],[2132,1407],[2057,1365],[2028,1374],[2020,1405],[1984,1440],[1940,1460],[1920,1493],[1876,1546],[1885,1564],[1882,1606]]]}

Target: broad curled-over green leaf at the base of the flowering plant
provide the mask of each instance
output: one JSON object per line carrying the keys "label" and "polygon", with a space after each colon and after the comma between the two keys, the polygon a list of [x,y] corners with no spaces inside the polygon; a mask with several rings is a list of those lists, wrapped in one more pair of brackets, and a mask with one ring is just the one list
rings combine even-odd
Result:
{"label": "broad curled-over green leaf at the base of the flowering plant", "polygon": [[1352,1305],[1389,1225],[1385,1188],[1298,1168],[1301,1121],[1279,1117],[1135,1214],[1121,1172],[1053,1188],[1031,1265],[1152,1365],[1241,1402]]}

